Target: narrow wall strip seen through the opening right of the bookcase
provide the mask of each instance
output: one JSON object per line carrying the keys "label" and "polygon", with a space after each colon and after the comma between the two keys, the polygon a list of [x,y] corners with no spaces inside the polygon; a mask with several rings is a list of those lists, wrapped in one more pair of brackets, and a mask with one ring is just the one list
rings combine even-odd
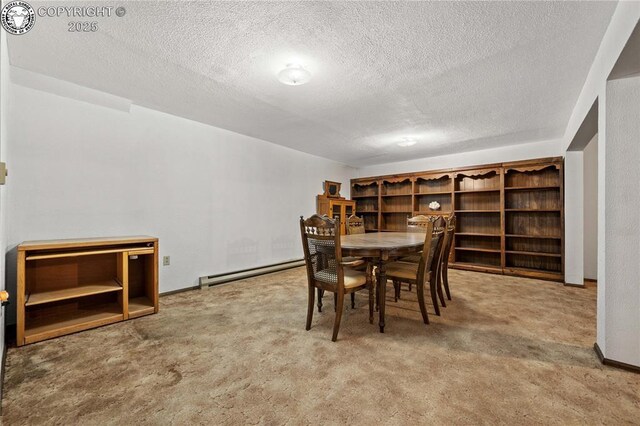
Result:
{"label": "narrow wall strip seen through the opening right of the bookcase", "polygon": [[584,277],[598,279],[598,135],[583,151]]}

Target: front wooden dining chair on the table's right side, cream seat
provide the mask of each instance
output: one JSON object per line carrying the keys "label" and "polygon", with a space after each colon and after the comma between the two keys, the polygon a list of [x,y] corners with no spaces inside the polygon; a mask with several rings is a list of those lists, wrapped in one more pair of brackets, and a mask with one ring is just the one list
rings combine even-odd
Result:
{"label": "front wooden dining chair on the table's right side, cream seat", "polygon": [[390,262],[387,264],[387,278],[393,281],[396,300],[400,293],[400,283],[415,284],[418,293],[418,304],[425,324],[429,324],[427,309],[424,302],[424,286],[429,283],[431,302],[436,315],[440,315],[438,306],[438,263],[440,262],[440,250],[442,250],[444,229],[437,229],[435,221],[430,221],[426,227],[424,246],[418,263]]}

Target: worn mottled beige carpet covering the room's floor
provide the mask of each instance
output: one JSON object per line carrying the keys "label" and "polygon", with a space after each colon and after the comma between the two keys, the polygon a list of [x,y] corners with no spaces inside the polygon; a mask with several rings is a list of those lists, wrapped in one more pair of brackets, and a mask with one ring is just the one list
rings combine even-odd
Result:
{"label": "worn mottled beige carpet covering the room's floor", "polygon": [[[422,324],[412,293],[366,295],[331,342],[304,330],[302,268],[161,298],[157,315],[7,355],[5,424],[631,424],[640,375],[592,349],[596,291],[452,271]],[[389,284],[389,289],[391,289]],[[388,296],[392,290],[388,291]]]}

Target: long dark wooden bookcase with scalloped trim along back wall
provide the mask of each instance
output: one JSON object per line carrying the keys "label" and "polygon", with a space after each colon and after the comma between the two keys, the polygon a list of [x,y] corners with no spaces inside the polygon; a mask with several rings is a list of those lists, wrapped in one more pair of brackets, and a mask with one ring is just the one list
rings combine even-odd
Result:
{"label": "long dark wooden bookcase with scalloped trim along back wall", "polygon": [[562,281],[563,181],[563,159],[554,157],[352,179],[351,193],[367,197],[357,213],[370,231],[404,231],[407,217],[454,212],[454,268]]}

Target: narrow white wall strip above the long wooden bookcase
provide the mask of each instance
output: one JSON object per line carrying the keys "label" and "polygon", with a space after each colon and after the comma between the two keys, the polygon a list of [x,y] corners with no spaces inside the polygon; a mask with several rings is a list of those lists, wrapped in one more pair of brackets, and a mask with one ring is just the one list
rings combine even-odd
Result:
{"label": "narrow white wall strip above the long wooden bookcase", "polygon": [[448,169],[479,164],[529,160],[532,158],[556,157],[563,154],[560,140],[532,142],[527,144],[463,152],[440,157],[420,158],[396,163],[366,166],[358,169],[358,177],[380,176],[394,173],[411,173],[423,170]]}

